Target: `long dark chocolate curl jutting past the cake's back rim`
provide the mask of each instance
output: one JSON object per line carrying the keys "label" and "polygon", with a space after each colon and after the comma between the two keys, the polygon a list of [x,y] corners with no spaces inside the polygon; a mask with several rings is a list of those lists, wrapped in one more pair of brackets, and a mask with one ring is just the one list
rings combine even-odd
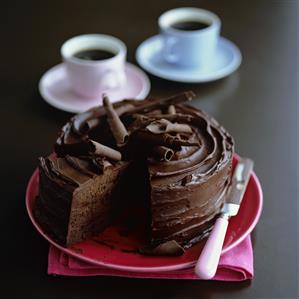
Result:
{"label": "long dark chocolate curl jutting past the cake's back rim", "polygon": [[150,112],[157,108],[168,107],[169,105],[175,105],[182,102],[191,101],[194,97],[195,94],[193,91],[186,91],[166,99],[145,100],[142,104],[133,108],[127,113],[133,114],[141,112]]}

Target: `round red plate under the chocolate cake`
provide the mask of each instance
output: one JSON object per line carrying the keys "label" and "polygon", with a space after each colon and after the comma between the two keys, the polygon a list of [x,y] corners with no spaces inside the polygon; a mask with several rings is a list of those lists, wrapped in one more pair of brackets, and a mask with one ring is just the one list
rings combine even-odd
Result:
{"label": "round red plate under the chocolate cake", "polygon": [[[234,165],[238,157],[234,157]],[[96,240],[87,240],[70,248],[64,248],[52,240],[33,218],[33,207],[38,195],[38,169],[32,174],[26,191],[26,207],[37,231],[60,250],[86,262],[117,270],[136,272],[170,271],[191,267],[195,264],[204,245],[204,240],[186,250],[180,257],[145,256],[134,252],[140,236],[123,236],[119,227],[110,227],[99,234]],[[239,213],[230,219],[222,253],[242,242],[253,230],[262,211],[263,194],[260,182],[252,173]],[[102,241],[105,242],[102,242]],[[109,242],[106,242],[106,241]],[[112,246],[107,246],[112,244]]]}

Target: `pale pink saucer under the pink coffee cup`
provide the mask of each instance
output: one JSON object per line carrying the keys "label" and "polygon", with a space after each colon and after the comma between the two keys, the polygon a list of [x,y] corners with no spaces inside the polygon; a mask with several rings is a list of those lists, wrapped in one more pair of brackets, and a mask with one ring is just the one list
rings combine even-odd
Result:
{"label": "pale pink saucer under the pink coffee cup", "polygon": [[[127,83],[122,88],[103,90],[111,101],[124,98],[144,99],[150,91],[150,81],[147,75],[131,63],[126,63]],[[84,98],[70,88],[64,64],[58,64],[48,70],[39,82],[39,91],[44,100],[51,106],[71,113],[88,110],[102,102],[99,98]]]}

